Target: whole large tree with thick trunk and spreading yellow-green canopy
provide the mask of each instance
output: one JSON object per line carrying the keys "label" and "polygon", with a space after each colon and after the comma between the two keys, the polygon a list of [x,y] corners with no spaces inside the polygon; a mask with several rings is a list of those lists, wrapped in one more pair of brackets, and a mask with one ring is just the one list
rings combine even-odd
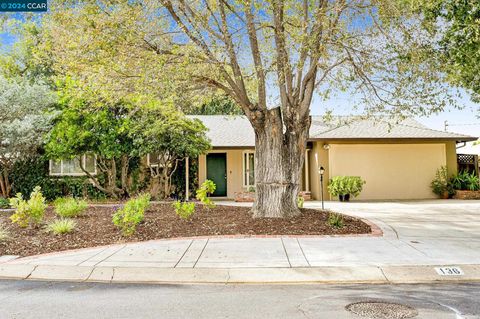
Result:
{"label": "whole large tree with thick trunk and spreading yellow-green canopy", "polygon": [[418,12],[391,0],[53,1],[36,58],[76,94],[181,110],[226,95],[256,136],[255,216],[299,213],[314,96],[426,115],[453,100]]}

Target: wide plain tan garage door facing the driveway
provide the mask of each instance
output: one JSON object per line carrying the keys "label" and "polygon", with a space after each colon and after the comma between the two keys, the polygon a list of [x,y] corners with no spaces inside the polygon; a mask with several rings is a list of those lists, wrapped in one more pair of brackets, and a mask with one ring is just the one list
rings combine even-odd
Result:
{"label": "wide plain tan garage door facing the driveway", "polygon": [[366,180],[357,199],[435,198],[430,182],[446,164],[446,147],[438,144],[331,144],[330,176]]}

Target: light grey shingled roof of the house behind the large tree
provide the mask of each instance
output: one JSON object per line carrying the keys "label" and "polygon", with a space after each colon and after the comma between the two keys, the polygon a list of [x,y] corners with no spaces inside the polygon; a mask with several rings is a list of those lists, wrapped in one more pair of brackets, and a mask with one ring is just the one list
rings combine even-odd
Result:
{"label": "light grey shingled roof of the house behind the large tree", "polygon": [[[190,115],[209,129],[214,147],[253,147],[255,134],[248,119],[239,115]],[[335,117],[325,121],[312,116],[310,140],[345,139],[439,139],[473,141],[475,137],[430,129],[413,119],[394,121],[386,118]]]}

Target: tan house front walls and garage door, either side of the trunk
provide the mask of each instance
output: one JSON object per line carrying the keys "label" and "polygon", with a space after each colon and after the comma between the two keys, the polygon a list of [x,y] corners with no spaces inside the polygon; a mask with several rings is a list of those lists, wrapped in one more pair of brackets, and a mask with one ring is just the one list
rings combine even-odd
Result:
{"label": "tan house front walls and garage door, either side of the trunk", "polygon": [[[325,149],[324,145],[329,145]],[[242,186],[242,158],[248,149],[218,149],[227,154],[227,197],[246,191]],[[250,149],[251,151],[251,149]],[[315,157],[315,155],[317,155]],[[312,198],[319,200],[318,167],[325,168],[323,196],[330,198],[328,180],[337,175],[361,176],[367,181],[357,199],[424,199],[435,198],[430,190],[435,171],[447,165],[450,174],[457,171],[454,141],[429,142],[343,142],[315,141],[308,152],[309,185]],[[316,160],[316,158],[318,160]],[[199,182],[206,179],[206,156],[199,157]],[[302,178],[303,180],[303,178]],[[302,189],[304,188],[302,181]]]}

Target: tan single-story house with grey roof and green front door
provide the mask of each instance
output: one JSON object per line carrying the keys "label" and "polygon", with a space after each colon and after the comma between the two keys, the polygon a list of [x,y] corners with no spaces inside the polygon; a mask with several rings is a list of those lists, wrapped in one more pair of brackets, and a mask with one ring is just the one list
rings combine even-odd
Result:
{"label": "tan single-story house with grey roof and green front door", "polygon": [[[199,182],[213,180],[215,196],[232,199],[255,185],[255,135],[244,116],[191,116],[209,129],[213,149],[199,158]],[[341,123],[341,124],[340,124]],[[303,168],[302,191],[321,198],[319,167],[325,168],[323,198],[333,176],[361,176],[358,199],[435,198],[430,183],[446,165],[457,172],[457,143],[475,137],[437,131],[415,120],[343,118],[326,122],[313,116]]]}

